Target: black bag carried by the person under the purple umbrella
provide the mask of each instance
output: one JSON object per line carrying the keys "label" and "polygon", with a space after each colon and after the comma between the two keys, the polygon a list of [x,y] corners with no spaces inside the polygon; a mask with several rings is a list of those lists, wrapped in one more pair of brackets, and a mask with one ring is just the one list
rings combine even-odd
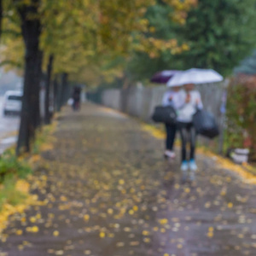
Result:
{"label": "black bag carried by the person under the purple umbrella", "polygon": [[154,108],[154,113],[152,119],[156,123],[165,123],[169,125],[176,124],[177,113],[172,106],[156,106]]}

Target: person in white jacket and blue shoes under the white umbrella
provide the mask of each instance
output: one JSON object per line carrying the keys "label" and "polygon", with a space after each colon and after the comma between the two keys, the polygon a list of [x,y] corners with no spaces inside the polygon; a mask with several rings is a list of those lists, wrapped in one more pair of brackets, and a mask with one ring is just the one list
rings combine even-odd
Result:
{"label": "person in white jacket and blue shoes under the white umbrella", "polygon": [[[193,125],[193,115],[198,109],[203,108],[201,102],[201,94],[195,90],[195,84],[184,84],[184,90],[180,90],[179,99],[183,102],[182,106],[177,110],[177,129],[181,136],[181,171],[182,180],[186,181],[189,171],[189,179],[195,180],[195,171],[197,166],[195,163],[195,143],[196,131]],[[187,155],[187,144],[190,144],[190,152]]]}

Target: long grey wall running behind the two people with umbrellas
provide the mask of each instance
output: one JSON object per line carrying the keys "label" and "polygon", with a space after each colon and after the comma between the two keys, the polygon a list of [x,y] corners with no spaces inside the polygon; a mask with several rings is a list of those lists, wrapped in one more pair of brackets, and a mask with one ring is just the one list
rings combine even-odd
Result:
{"label": "long grey wall running behind the two people with umbrellas", "polygon": [[[197,89],[201,92],[204,108],[219,119],[224,84],[201,84]],[[154,107],[161,104],[165,91],[166,86],[137,86],[125,90],[108,89],[102,92],[102,104],[151,122]]]}

